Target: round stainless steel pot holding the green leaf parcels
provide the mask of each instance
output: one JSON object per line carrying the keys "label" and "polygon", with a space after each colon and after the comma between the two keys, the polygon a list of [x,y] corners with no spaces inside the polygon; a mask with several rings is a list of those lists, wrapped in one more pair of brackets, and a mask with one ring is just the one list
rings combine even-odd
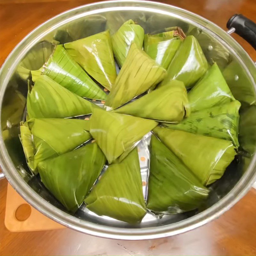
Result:
{"label": "round stainless steel pot holding the green leaf parcels", "polygon": [[[65,212],[40,178],[29,175],[18,137],[28,71],[41,67],[51,52],[51,42],[72,41],[106,28],[113,32],[128,19],[143,26],[146,33],[180,26],[187,35],[196,36],[209,62],[217,62],[234,96],[242,102],[240,143],[243,153],[239,162],[230,165],[224,176],[212,185],[204,208],[162,219],[146,217],[136,226],[97,216],[84,207],[74,216]],[[227,32],[194,13],[149,1],[106,1],[80,6],[46,21],[28,34],[5,60],[0,74],[3,174],[29,204],[69,228],[95,236],[131,240],[176,235],[219,217],[246,194],[256,179],[256,66]]]}

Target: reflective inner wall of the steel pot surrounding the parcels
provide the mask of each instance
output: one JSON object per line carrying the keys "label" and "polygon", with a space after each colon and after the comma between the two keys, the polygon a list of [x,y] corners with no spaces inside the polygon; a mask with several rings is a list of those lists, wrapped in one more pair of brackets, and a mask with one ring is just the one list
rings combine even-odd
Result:
{"label": "reflective inner wall of the steel pot surrounding the parcels", "polygon": [[[242,103],[239,135],[241,148],[239,150],[243,151],[243,156],[236,158],[230,164],[223,177],[212,184],[208,201],[199,211],[170,216],[165,215],[161,219],[149,216],[139,225],[139,227],[162,226],[184,220],[219,201],[236,185],[237,181],[246,171],[255,150],[256,108],[254,105],[250,106],[255,101],[255,91],[252,81],[229,49],[223,46],[218,38],[209,35],[204,28],[189,23],[182,17],[172,16],[171,14],[164,15],[152,11],[142,12],[141,10],[99,12],[68,22],[56,28],[54,31],[49,32],[45,38],[40,39],[26,53],[23,60],[16,67],[16,71],[13,73],[12,79],[9,81],[4,94],[1,112],[1,129],[6,150],[17,172],[20,173],[24,181],[43,199],[65,211],[61,204],[44,188],[40,177],[32,177],[30,175],[19,140],[19,123],[24,119],[28,92],[27,84],[28,80],[30,80],[29,70],[36,70],[44,64],[44,61],[52,52],[53,44],[56,41],[63,44],[99,33],[105,29],[109,29],[113,33],[128,19],[132,19],[137,24],[140,24],[145,29],[145,33],[153,33],[164,28],[179,26],[187,35],[196,36],[209,63],[212,63],[212,61],[217,62],[232,93]],[[82,220],[101,223],[102,225],[132,228],[131,225],[125,224],[124,222],[99,217],[89,212],[84,206],[80,207],[75,216]]]}

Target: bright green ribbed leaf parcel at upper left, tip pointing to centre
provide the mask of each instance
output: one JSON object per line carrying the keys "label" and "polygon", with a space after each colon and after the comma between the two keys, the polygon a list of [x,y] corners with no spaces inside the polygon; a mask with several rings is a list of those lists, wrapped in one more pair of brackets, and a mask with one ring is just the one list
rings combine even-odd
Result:
{"label": "bright green ribbed leaf parcel at upper left, tip pointing to centre", "polygon": [[69,56],[63,45],[56,46],[54,52],[41,70],[31,71],[32,80],[35,82],[40,74],[49,76],[56,83],[81,97],[106,100],[106,93]]}

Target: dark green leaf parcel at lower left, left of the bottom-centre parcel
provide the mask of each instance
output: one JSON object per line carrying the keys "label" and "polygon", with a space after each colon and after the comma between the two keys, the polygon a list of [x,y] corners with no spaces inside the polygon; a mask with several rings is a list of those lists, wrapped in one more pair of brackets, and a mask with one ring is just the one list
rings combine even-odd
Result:
{"label": "dark green leaf parcel at lower left, left of the bottom-centre parcel", "polygon": [[96,143],[38,164],[44,186],[68,211],[76,212],[106,162]]}

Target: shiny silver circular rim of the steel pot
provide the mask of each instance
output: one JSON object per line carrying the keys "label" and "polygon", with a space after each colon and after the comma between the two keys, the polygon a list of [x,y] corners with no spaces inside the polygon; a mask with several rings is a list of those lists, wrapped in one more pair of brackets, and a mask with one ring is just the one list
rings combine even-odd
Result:
{"label": "shiny silver circular rim of the steel pot", "polygon": [[[24,57],[28,49],[30,49],[37,41],[39,41],[43,36],[49,33],[49,31],[46,33],[44,30],[44,33],[39,33],[39,30],[42,28],[49,27],[50,24],[53,24],[51,27],[51,31],[55,28],[63,25],[64,21],[65,23],[69,20],[74,20],[79,16],[79,11],[83,10],[84,8],[90,8],[90,7],[96,7],[94,9],[94,12],[100,13],[100,8],[97,9],[100,5],[107,5],[111,8],[120,8],[124,9],[132,7],[135,9],[138,9],[136,6],[121,6],[122,4],[142,4],[145,6],[152,6],[152,8],[156,7],[165,7],[169,8],[169,15],[172,13],[173,10],[176,12],[181,12],[183,14],[187,14],[188,16],[193,16],[193,18],[197,19],[198,21],[201,21],[201,23],[204,23],[204,26],[201,24],[198,24],[194,20],[190,20],[189,18],[186,18],[185,20],[188,20],[190,23],[196,24],[197,27],[202,28],[206,30],[209,34],[211,34],[214,37],[217,37],[218,40],[222,42],[225,46],[231,46],[231,50],[233,54],[238,58],[238,60],[241,62],[242,66],[245,70],[247,70],[247,73],[249,76],[251,76],[251,79],[254,84],[254,90],[256,91],[256,75],[255,77],[252,75],[252,73],[248,70],[253,70],[255,68],[256,73],[256,67],[254,65],[254,62],[250,58],[250,56],[244,51],[244,49],[231,37],[229,36],[222,28],[217,26],[216,24],[212,23],[211,21],[201,17],[200,15],[197,15],[193,12],[189,12],[185,9],[168,5],[168,4],[162,4],[158,2],[151,2],[151,1],[143,1],[143,0],[121,0],[121,1],[103,1],[98,3],[92,3],[92,4],[86,4],[82,5],[73,9],[70,9],[68,11],[62,12],[53,18],[45,21],[38,27],[36,27],[34,30],[32,30],[27,36],[25,36],[19,44],[12,50],[12,52],[9,54],[9,56],[4,61],[4,64],[2,65],[0,69],[0,105],[2,106],[3,96],[6,89],[6,86],[8,84],[8,81],[14,71],[14,68],[16,68],[18,62]],[[120,6],[118,4],[121,4]],[[107,7],[104,7],[104,9]],[[145,9],[146,7],[141,7]],[[153,10],[153,9],[152,9]],[[161,10],[159,10],[160,12]],[[84,11],[80,13],[80,15],[83,15],[83,13],[87,13],[88,11]],[[93,12],[89,10],[89,12]],[[161,11],[162,13],[164,11]],[[68,14],[73,13],[69,18],[66,18],[65,20],[62,20],[61,18],[68,17]],[[89,14],[87,14],[89,15]],[[173,16],[177,15],[172,13]],[[84,16],[84,15],[83,15]],[[179,16],[179,15],[177,15]],[[180,16],[179,16],[180,17]],[[183,18],[183,17],[182,17]],[[58,21],[56,23],[56,21]],[[207,25],[208,24],[208,25]],[[57,26],[58,25],[58,26]],[[207,26],[206,26],[207,25]],[[212,26],[212,29],[214,28],[217,30],[217,32],[213,32],[210,27]],[[36,36],[37,35],[37,36]],[[40,36],[39,36],[40,35]],[[222,37],[221,37],[222,36]],[[224,38],[226,41],[229,41],[229,44],[224,41]],[[238,52],[235,52],[234,48],[238,50]],[[18,57],[17,57],[18,53]],[[244,59],[246,59],[246,64],[244,63]],[[244,61],[243,61],[244,60]],[[12,63],[10,65],[10,68],[8,68],[9,63]],[[1,109],[0,109],[1,114]],[[226,212],[228,209],[230,209],[234,204],[236,204],[252,187],[253,183],[256,181],[256,154],[253,155],[251,163],[247,169],[247,171],[244,173],[244,175],[241,177],[241,179],[237,182],[236,186],[222,199],[220,199],[219,202],[212,205],[208,209],[204,210],[201,213],[196,214],[195,216],[192,216],[186,220],[182,220],[176,223],[168,224],[161,227],[152,227],[152,228],[117,228],[117,227],[107,227],[103,226],[101,224],[91,223],[86,220],[78,219],[74,216],[69,215],[66,212],[61,211],[60,209],[56,208],[52,204],[48,203],[46,200],[41,198],[39,195],[36,194],[36,192],[28,186],[26,182],[20,177],[19,173],[17,172],[15,166],[12,163],[12,160],[10,159],[5,147],[4,147],[4,140],[2,137],[2,131],[1,131],[1,138],[0,138],[0,165],[2,167],[2,171],[7,178],[7,180],[10,182],[12,187],[34,208],[36,208],[38,211],[46,215],[52,220],[55,220],[59,222],[60,224],[75,229],[77,231],[83,232],[88,235],[94,235],[99,237],[105,237],[105,238],[113,238],[113,239],[125,239],[125,240],[142,240],[142,239],[152,239],[152,238],[161,238],[166,236],[172,236],[176,234],[180,234],[189,230],[192,230],[194,228],[200,227],[206,223],[208,223],[211,220],[214,220],[218,218],[221,214]]]}

